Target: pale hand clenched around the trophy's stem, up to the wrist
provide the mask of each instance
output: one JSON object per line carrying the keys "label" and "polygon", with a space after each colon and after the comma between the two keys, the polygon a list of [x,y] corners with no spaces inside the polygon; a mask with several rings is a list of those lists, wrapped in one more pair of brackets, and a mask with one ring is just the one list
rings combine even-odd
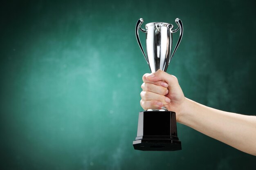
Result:
{"label": "pale hand clenched around the trophy's stem, up to the wrist", "polygon": [[141,107],[160,108],[165,106],[168,110],[176,112],[176,119],[182,112],[185,97],[180,88],[177,77],[158,70],[155,73],[145,74],[141,85]]}

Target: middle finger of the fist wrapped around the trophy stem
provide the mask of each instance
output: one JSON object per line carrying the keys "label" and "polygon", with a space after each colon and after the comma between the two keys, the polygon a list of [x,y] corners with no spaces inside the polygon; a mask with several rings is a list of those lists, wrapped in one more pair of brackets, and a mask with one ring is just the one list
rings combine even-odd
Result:
{"label": "middle finger of the fist wrapped around the trophy stem", "polygon": [[166,87],[165,84],[166,83],[163,83],[164,86],[163,85],[162,86],[158,86],[158,85],[155,85],[155,84],[152,84],[152,83],[143,83],[141,85],[141,88],[142,88],[143,91],[150,91],[150,92],[157,93],[159,95],[164,95],[165,96],[169,92],[168,89],[167,89],[168,84],[166,84],[167,87]]}

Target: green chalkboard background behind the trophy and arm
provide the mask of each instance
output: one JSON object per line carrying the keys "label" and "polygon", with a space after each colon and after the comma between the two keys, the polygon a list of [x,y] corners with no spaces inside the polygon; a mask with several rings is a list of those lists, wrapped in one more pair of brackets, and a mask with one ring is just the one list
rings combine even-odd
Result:
{"label": "green chalkboard background behind the trophy and arm", "polygon": [[168,73],[186,97],[255,115],[255,7],[254,0],[1,2],[0,169],[255,169],[256,157],[182,124],[181,151],[132,147],[149,72],[137,20],[182,20]]}

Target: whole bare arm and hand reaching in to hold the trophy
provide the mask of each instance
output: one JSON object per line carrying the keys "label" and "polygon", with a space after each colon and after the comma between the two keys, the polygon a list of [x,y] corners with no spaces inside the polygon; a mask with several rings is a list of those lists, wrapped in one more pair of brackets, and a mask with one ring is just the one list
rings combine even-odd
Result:
{"label": "whole bare arm and hand reaching in to hold the trophy", "polygon": [[256,116],[210,108],[186,98],[177,78],[158,70],[145,74],[141,85],[141,107],[176,112],[177,122],[256,156]]}

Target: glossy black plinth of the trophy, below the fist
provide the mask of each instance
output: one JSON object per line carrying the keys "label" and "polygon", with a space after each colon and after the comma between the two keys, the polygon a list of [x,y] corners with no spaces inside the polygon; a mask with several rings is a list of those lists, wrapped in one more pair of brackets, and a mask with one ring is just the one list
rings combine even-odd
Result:
{"label": "glossy black plinth of the trophy, below the fist", "polygon": [[181,150],[175,112],[140,112],[137,137],[133,141],[133,147],[135,150],[144,151]]}

